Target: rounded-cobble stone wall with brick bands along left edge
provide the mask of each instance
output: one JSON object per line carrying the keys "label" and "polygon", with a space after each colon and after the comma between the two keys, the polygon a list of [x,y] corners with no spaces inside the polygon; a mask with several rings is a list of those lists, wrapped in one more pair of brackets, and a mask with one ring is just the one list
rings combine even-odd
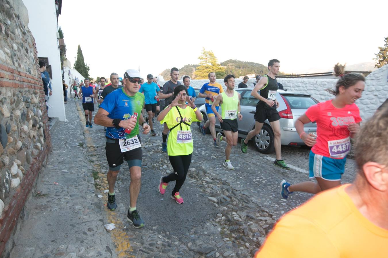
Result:
{"label": "rounded-cobble stone wall with brick bands along left edge", "polygon": [[51,148],[35,40],[12,4],[0,0],[0,254]]}

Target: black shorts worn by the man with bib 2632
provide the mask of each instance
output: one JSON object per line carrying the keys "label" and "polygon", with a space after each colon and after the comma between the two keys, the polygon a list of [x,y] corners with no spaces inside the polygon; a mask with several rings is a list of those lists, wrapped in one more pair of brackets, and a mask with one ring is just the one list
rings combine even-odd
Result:
{"label": "black shorts worn by the man with bib 2632", "polygon": [[[141,143],[139,135],[137,136]],[[120,169],[121,164],[124,161],[128,163],[128,167],[132,166],[142,166],[142,157],[143,152],[142,148],[136,148],[133,150],[128,150],[126,152],[121,152],[120,144],[118,139],[107,138],[105,146],[106,159],[108,161],[109,169],[117,171]]]}

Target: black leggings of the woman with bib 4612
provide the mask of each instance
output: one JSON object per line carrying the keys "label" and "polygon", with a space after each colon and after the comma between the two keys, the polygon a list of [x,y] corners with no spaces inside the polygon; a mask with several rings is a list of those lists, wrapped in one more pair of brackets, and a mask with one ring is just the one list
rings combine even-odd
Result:
{"label": "black leggings of the woman with bib 4612", "polygon": [[185,182],[187,171],[189,170],[191,163],[191,154],[182,155],[182,156],[168,156],[170,159],[171,166],[174,169],[173,173],[170,173],[168,176],[163,178],[164,183],[169,183],[170,181],[176,181],[175,187],[172,191],[174,193],[178,192]]}

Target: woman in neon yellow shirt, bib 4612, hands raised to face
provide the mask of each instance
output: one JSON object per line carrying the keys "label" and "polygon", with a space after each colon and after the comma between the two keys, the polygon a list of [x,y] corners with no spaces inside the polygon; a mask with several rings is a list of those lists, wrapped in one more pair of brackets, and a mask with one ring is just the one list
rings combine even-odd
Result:
{"label": "woman in neon yellow shirt, bib 4612, hands raised to face", "polygon": [[[171,198],[177,203],[183,203],[183,198],[179,194],[187,171],[191,163],[193,152],[193,140],[190,125],[195,121],[202,121],[202,114],[188,97],[187,89],[183,85],[178,85],[174,89],[173,102],[168,105],[158,115],[158,121],[166,123],[170,129],[170,136],[167,142],[168,158],[174,172],[168,176],[161,177],[159,192],[163,195],[170,181],[176,181],[171,193]],[[187,105],[186,105],[187,101]]]}

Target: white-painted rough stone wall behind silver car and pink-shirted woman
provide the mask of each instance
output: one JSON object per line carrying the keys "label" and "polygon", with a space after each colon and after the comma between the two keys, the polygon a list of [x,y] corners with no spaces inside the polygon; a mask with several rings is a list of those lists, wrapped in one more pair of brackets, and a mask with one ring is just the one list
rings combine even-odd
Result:
{"label": "white-painted rough stone wall behind silver car and pink-shirted woman", "polygon": [[[363,120],[370,118],[376,109],[388,98],[388,65],[370,73],[365,78],[365,90],[362,97],[356,101]],[[333,99],[333,95],[325,91],[335,89],[338,79],[307,79],[307,78],[279,78],[288,91],[307,92],[318,101]]]}

